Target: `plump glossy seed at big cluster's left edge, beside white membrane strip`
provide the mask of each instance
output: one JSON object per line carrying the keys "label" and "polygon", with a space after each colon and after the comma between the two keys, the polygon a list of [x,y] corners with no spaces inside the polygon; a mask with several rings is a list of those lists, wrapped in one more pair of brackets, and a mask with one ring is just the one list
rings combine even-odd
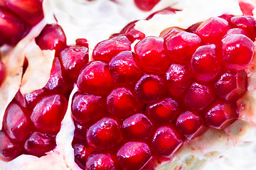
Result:
{"label": "plump glossy seed at big cluster's left edge, beside white membrane strip", "polygon": [[76,92],[71,105],[72,116],[78,123],[91,123],[105,115],[105,102],[102,96]]}

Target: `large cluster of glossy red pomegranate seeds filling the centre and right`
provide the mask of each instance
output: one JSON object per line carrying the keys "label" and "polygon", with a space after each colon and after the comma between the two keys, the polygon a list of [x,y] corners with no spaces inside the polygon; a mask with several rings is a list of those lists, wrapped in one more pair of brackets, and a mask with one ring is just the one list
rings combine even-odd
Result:
{"label": "large cluster of glossy red pomegranate seeds filling the centre and right", "polygon": [[146,38],[136,22],[98,43],[78,76],[73,148],[82,169],[146,169],[238,119],[255,20],[223,15]]}

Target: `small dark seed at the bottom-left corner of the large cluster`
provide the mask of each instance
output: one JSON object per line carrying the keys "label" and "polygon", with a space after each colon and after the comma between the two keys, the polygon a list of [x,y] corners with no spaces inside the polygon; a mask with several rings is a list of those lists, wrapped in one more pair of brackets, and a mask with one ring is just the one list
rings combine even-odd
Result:
{"label": "small dark seed at the bottom-left corner of the large cluster", "polygon": [[85,169],[87,158],[94,151],[94,149],[82,143],[73,144],[73,148],[75,154],[75,163],[78,164],[81,169]]}

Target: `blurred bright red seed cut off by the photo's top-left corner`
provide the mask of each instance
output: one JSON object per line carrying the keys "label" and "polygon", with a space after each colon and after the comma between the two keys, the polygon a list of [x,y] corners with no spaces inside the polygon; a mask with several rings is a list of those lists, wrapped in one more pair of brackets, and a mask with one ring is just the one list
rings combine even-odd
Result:
{"label": "blurred bright red seed cut off by the photo's top-left corner", "polygon": [[43,19],[42,0],[4,0],[6,6],[31,25],[39,23]]}

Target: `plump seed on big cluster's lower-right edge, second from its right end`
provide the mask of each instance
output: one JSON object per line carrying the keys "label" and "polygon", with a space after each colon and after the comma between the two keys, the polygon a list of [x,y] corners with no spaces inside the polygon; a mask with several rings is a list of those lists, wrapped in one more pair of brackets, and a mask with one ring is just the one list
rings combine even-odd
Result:
{"label": "plump seed on big cluster's lower-right edge, second from its right end", "polygon": [[201,134],[203,120],[195,113],[186,111],[178,116],[176,127],[188,140],[192,140]]}

